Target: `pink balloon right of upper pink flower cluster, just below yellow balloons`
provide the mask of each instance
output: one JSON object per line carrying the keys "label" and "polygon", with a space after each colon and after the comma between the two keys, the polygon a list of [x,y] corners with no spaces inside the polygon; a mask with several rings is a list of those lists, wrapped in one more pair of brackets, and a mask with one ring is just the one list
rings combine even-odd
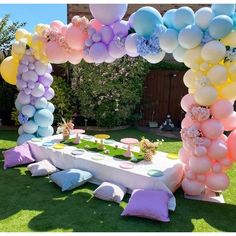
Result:
{"label": "pink balloon right of upper pink flower cluster, just below yellow balloons", "polygon": [[210,110],[214,118],[225,119],[233,113],[234,107],[230,101],[219,100],[211,106]]}

